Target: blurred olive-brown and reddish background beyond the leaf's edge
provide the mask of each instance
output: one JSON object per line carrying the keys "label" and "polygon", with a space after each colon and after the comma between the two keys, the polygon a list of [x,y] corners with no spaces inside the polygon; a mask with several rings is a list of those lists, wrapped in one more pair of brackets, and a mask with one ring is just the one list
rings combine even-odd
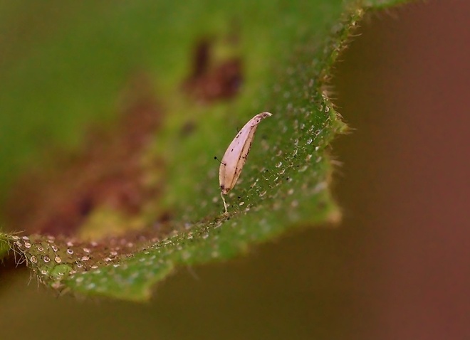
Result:
{"label": "blurred olive-brown and reddish background beyond the leaf's edge", "polygon": [[470,339],[469,11],[370,14],[343,54],[337,228],[179,270],[148,304],[2,275],[1,339]]}

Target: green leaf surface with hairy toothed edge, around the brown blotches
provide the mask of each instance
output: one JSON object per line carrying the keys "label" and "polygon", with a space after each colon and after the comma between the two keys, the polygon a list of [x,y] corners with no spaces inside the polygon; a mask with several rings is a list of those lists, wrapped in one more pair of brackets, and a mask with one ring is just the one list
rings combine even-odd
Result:
{"label": "green leaf surface with hairy toothed edge, around the brown blotches", "polygon": [[[377,1],[377,6],[397,2]],[[0,169],[7,179],[0,187],[6,188],[31,159],[37,161],[34,154],[41,155],[47,144],[77,149],[87,122],[112,120],[116,89],[139,68],[158,83],[153,86],[165,107],[162,127],[140,155],[142,164],[159,159],[165,170],[144,165],[140,176],[150,179],[149,186],[164,182],[164,194],[149,198],[147,208],[132,219],[119,209],[98,209],[82,228],[132,222],[143,226],[140,232],[95,242],[0,234],[0,246],[9,243],[53,288],[142,300],[176,267],[229,259],[289,230],[338,221],[340,212],[329,191],[333,166],[328,151],[346,127],[326,86],[364,11],[357,1],[78,6],[60,33],[41,36],[28,58],[11,58],[8,68],[2,66],[10,80],[0,91],[6,93],[0,97],[0,111],[10,112],[0,118],[8,132],[2,138],[18,147],[2,155],[11,161]],[[207,37],[216,62],[236,58],[243,65],[243,86],[229,101],[204,97],[200,104],[181,90],[190,73],[192,48]],[[58,63],[51,63],[58,55]],[[26,75],[31,84],[23,83]],[[28,101],[11,95],[15,92]],[[64,111],[67,115],[59,114]],[[224,154],[236,127],[263,111],[273,117],[259,125],[239,182],[226,198],[229,213],[224,214],[219,164],[213,157]],[[21,127],[11,112],[21,112]],[[31,112],[46,120],[38,122]],[[182,137],[188,122],[194,132]],[[46,145],[23,139],[43,129],[50,132]],[[19,133],[11,133],[15,130]],[[162,211],[170,211],[172,218],[158,222]]]}

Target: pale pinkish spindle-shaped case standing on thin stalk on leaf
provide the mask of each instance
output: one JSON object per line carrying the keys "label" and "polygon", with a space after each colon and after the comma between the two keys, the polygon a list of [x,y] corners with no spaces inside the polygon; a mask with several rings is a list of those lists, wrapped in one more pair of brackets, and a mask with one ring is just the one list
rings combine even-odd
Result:
{"label": "pale pinkish spindle-shaped case standing on thin stalk on leaf", "polygon": [[271,117],[269,112],[261,112],[254,116],[241,128],[236,134],[233,141],[231,141],[227,148],[224,157],[220,163],[219,168],[219,183],[221,193],[220,196],[224,201],[225,213],[227,213],[227,205],[225,203],[224,195],[229,193],[231,188],[236,184],[239,179],[241,169],[245,165],[246,157],[250,152],[251,143],[253,142],[254,134],[259,122],[266,117]]}

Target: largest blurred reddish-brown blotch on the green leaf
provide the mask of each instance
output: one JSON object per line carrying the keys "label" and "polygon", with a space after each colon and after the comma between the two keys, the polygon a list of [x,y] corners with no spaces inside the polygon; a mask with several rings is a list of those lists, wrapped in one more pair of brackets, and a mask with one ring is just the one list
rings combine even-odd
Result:
{"label": "largest blurred reddish-brown blotch on the green leaf", "polygon": [[162,192],[162,181],[148,184],[144,176],[162,173],[162,159],[152,159],[150,169],[143,169],[141,159],[161,119],[152,84],[135,77],[122,94],[113,127],[90,129],[82,152],[53,152],[47,169],[21,176],[6,203],[7,223],[27,233],[72,235],[96,208],[139,214]]}

